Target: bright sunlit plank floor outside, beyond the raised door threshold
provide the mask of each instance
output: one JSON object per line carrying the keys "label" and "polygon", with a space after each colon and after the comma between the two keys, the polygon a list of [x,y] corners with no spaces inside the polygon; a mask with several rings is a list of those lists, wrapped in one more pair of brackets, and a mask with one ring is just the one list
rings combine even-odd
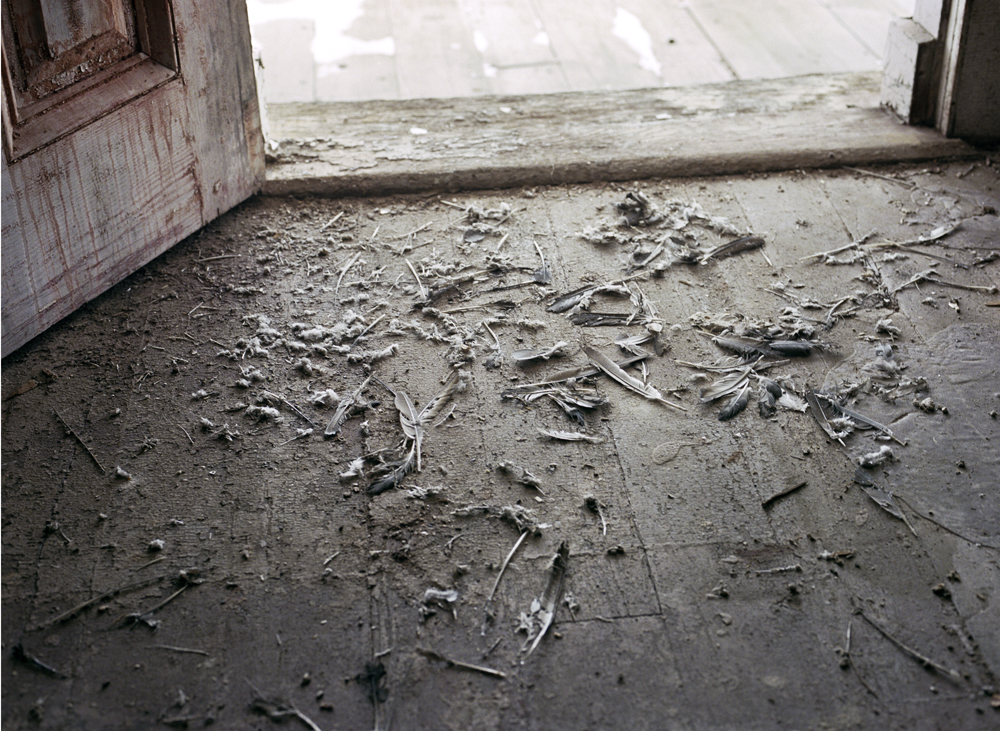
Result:
{"label": "bright sunlit plank floor outside, beyond the raised door threshold", "polygon": [[642,89],[880,71],[913,0],[248,0],[267,101]]}

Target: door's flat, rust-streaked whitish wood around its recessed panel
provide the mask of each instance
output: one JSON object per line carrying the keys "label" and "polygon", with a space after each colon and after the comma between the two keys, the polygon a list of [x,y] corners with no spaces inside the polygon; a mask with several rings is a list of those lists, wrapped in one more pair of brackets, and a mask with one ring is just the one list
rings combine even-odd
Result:
{"label": "door's flat, rust-streaked whitish wood around its recessed panel", "polygon": [[260,187],[246,6],[174,19],[182,78],[5,165],[4,356]]}

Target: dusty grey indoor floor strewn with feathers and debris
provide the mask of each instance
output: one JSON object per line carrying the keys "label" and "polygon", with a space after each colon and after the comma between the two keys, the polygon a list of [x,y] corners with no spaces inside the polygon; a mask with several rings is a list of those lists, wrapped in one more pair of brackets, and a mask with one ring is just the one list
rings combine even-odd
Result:
{"label": "dusty grey indoor floor strewn with feathers and debris", "polygon": [[[644,182],[666,218],[632,229],[625,185],[223,216],[3,363],[4,728],[996,728],[1000,168],[870,172]],[[735,234],[671,201],[766,245],[677,263]],[[463,211],[505,203],[478,233]],[[804,259],[958,221],[910,250]],[[628,282],[632,324],[547,311],[658,241]],[[932,268],[989,291],[901,286]],[[598,294],[591,310],[636,307]],[[896,440],[834,424],[841,446],[780,405],[762,418],[755,377],[720,421],[732,396],[699,394],[726,374],[679,361],[728,355],[702,332],[726,322],[823,343],[767,370],[759,346],[757,372],[838,394]],[[587,365],[583,343],[621,360],[615,338],[658,324],[667,349],[630,373],[686,411],[607,376],[582,423],[501,398]],[[514,362],[559,341],[562,357]],[[420,411],[455,367],[422,471],[370,495],[379,457],[406,452],[388,389]],[[325,438],[323,392],[368,375]],[[855,481],[882,447],[861,482],[896,516]],[[490,601],[523,521],[537,530]]]}

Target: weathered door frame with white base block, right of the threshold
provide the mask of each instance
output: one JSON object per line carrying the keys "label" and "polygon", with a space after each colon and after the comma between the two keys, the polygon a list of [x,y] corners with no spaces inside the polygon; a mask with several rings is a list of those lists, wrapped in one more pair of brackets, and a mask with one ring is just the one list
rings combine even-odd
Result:
{"label": "weathered door frame with white base block, right of the threshold", "polygon": [[889,29],[882,102],[948,137],[1000,139],[1000,4],[917,0]]}

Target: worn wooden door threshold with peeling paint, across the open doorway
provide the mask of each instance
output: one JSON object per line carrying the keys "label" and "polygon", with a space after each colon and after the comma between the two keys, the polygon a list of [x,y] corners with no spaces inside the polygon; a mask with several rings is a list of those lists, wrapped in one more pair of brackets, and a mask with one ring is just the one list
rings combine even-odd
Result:
{"label": "worn wooden door threshold with peeling paint, across the open doorway", "polygon": [[881,74],[278,104],[264,193],[383,195],[981,155],[879,106]]}

